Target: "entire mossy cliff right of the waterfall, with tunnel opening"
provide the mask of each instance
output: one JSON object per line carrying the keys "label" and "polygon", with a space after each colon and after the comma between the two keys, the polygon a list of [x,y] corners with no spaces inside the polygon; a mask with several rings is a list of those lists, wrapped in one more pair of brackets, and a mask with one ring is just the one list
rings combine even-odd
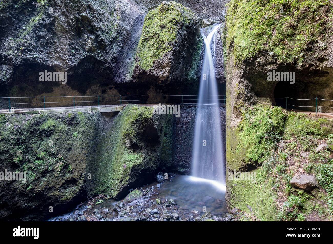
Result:
{"label": "entire mossy cliff right of the waterfall, with tunnel opening", "polygon": [[[230,210],[240,209],[245,219],[313,220],[319,208],[325,212],[322,220],[331,216],[328,185],[318,183],[319,192],[327,193],[323,198],[300,192],[290,184],[293,176],[318,174],[309,165],[318,163],[316,146],[332,136],[330,122],[272,107],[283,106],[285,100],[278,98],[286,96],[332,99],[331,7],[327,1],[286,1],[279,5],[273,1],[231,0],[227,5],[222,35],[227,60],[226,199]],[[295,72],[295,83],[268,81],[268,72],[273,70]],[[288,103],[314,106],[313,100]],[[320,103],[333,107],[331,101]],[[301,109],[313,111],[313,107]],[[329,155],[326,151],[323,157],[331,165]],[[256,172],[256,182],[228,179],[235,171]],[[325,178],[330,177],[326,172]]]}

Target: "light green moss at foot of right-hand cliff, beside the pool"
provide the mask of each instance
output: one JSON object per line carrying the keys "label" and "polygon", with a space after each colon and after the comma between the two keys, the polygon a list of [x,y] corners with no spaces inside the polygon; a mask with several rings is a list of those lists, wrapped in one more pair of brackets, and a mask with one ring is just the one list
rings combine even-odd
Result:
{"label": "light green moss at foot of right-hand cliff, beside the pool", "polygon": [[[230,200],[228,207],[251,213],[252,212],[262,221],[276,220],[277,210],[274,199],[277,198],[276,193],[271,191],[273,179],[264,181],[260,178],[261,170],[256,170],[256,182],[251,181],[228,181],[230,188]],[[248,207],[249,206],[249,207]]]}

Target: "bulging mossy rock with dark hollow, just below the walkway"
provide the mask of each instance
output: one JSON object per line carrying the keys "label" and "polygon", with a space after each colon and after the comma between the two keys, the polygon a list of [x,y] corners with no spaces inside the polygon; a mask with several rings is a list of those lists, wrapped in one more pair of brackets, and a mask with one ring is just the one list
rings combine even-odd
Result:
{"label": "bulging mossy rock with dark hollow, just below the walkway", "polygon": [[166,115],[153,107],[127,105],[108,131],[97,137],[88,172],[89,194],[125,197],[128,190],[152,182],[159,168]]}

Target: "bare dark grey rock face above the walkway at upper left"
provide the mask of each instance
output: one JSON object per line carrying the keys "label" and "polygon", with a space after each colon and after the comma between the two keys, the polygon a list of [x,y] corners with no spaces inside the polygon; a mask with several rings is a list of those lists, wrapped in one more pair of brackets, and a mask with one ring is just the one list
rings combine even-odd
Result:
{"label": "bare dark grey rock face above the walkway at upper left", "polygon": [[[0,97],[146,93],[150,85],[138,88],[132,73],[145,16],[161,2],[2,1]],[[179,2],[200,18],[224,16],[225,0]],[[39,81],[44,70],[67,72],[67,83]]]}

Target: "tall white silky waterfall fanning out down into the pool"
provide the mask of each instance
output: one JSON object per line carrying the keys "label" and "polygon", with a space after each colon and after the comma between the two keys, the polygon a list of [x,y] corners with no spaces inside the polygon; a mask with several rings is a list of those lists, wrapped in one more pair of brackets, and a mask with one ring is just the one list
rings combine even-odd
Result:
{"label": "tall white silky waterfall fanning out down into the pool", "polygon": [[194,127],[192,176],[224,183],[220,108],[211,51],[214,50],[215,41],[212,40],[219,27],[216,25],[207,36],[201,29],[205,53]]}

